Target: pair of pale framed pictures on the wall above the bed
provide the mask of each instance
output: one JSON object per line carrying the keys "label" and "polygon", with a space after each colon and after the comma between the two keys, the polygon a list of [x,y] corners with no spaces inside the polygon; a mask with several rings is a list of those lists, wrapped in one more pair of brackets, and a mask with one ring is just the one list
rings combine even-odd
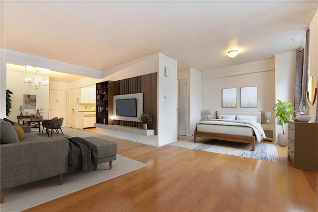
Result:
{"label": "pair of pale framed pictures on the wall above the bed", "polygon": [[[237,107],[237,88],[222,89],[222,107]],[[240,88],[240,107],[257,107],[257,86]]]}

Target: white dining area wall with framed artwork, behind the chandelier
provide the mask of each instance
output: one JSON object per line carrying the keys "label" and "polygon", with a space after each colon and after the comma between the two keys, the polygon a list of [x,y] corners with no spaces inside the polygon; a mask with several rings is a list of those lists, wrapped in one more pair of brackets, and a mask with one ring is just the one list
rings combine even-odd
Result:
{"label": "white dining area wall with framed artwork, behind the chandelier", "polygon": [[[24,79],[26,77],[31,77],[31,79],[34,79],[34,75],[30,74],[21,74],[18,72],[9,71],[6,73],[6,89],[9,89],[13,94],[11,95],[11,112],[8,116],[8,119],[17,122],[17,115],[20,115],[19,106],[23,106],[23,95],[24,94],[30,94],[30,95],[36,95],[36,108],[40,108],[40,106],[43,107],[43,117],[48,118],[49,117],[49,86],[47,86],[44,90],[37,90],[30,88],[28,85],[25,85]],[[49,77],[47,76],[40,76],[39,77],[42,80],[49,81]],[[35,113],[35,109],[24,109],[23,115],[25,112],[28,112],[29,114]]]}

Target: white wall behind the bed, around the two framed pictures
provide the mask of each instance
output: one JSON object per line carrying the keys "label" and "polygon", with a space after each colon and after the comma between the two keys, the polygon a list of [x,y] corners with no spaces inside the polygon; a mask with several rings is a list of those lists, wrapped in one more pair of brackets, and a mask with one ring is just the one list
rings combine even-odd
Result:
{"label": "white wall behind the bed, around the two framed pictures", "polygon": [[[246,63],[203,72],[201,118],[206,118],[206,109],[215,111],[272,111],[275,104],[274,59]],[[257,107],[240,108],[240,88],[257,86]],[[222,108],[222,89],[237,88],[237,108]],[[265,122],[263,118],[263,123]],[[274,124],[274,114],[270,118]]]}

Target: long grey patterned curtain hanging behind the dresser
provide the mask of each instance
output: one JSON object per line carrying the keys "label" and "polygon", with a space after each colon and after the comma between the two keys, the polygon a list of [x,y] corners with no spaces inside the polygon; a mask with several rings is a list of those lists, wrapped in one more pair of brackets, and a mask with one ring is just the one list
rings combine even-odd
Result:
{"label": "long grey patterned curtain hanging behind the dresser", "polygon": [[[296,51],[295,76],[295,111],[299,112],[303,106],[308,107],[306,91],[309,82],[309,29],[306,30],[305,48]],[[309,110],[308,110],[309,114]]]}

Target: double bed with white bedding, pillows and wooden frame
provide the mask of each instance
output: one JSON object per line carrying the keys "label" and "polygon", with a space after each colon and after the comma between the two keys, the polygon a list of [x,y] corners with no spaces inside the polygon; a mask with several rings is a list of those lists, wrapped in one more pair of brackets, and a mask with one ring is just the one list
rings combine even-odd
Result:
{"label": "double bed with white bedding, pillows and wooden frame", "polygon": [[262,112],[216,111],[216,117],[217,119],[202,120],[197,123],[194,131],[195,143],[197,137],[250,143],[252,151],[255,151],[255,142],[260,142],[266,137],[260,126]]}

